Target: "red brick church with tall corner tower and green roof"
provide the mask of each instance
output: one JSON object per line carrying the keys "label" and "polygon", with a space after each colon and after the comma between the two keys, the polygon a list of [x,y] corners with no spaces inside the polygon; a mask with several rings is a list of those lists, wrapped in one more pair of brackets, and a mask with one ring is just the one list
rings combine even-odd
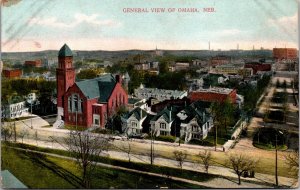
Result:
{"label": "red brick church with tall corner tower and green roof", "polygon": [[[128,95],[122,88],[122,78],[106,74],[99,78],[75,82],[73,53],[64,45],[58,53],[56,126],[61,124],[101,127],[107,117],[128,104]],[[55,124],[54,124],[55,125]]]}

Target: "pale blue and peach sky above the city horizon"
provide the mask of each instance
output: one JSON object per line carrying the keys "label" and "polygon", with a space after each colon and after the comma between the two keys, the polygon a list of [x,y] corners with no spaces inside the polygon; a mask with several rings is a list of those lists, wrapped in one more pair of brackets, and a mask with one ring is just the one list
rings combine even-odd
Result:
{"label": "pale blue and peach sky above the city horizon", "polygon": [[72,50],[298,48],[297,0],[8,1],[1,7],[3,52],[59,50],[64,43]]}

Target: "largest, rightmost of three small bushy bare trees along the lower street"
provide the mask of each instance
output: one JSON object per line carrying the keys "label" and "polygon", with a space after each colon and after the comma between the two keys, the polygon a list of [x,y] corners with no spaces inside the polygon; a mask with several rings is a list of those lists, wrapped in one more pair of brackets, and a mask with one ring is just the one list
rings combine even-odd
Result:
{"label": "largest, rightmost of three small bushy bare trees along the lower street", "polygon": [[253,160],[248,156],[242,154],[233,154],[229,156],[229,165],[232,166],[232,169],[235,171],[238,176],[239,182],[241,184],[241,175],[244,172],[253,171],[257,164],[258,160]]}

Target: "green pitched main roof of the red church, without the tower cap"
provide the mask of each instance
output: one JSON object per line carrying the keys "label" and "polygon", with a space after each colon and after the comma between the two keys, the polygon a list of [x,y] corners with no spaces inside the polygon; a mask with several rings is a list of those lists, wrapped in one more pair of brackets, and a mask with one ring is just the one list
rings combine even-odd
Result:
{"label": "green pitched main roof of the red church, without the tower cap", "polygon": [[116,85],[116,80],[113,75],[107,74],[75,84],[88,99],[99,98],[100,102],[107,102]]}

